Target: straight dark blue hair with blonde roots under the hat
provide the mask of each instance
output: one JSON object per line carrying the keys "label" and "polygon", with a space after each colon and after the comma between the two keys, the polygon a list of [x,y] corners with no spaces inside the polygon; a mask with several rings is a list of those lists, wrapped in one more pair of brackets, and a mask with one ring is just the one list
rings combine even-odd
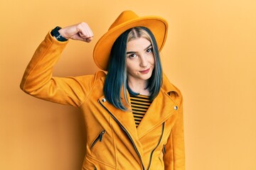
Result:
{"label": "straight dark blue hair with blonde roots under the hat", "polygon": [[[114,45],[112,46],[112,50],[110,52],[110,60],[107,68],[107,77],[105,79],[105,84],[103,88],[103,92],[107,101],[109,103],[112,103],[114,107],[119,108],[123,111],[127,111],[127,107],[125,107],[125,105],[129,105],[126,92],[127,89],[129,89],[129,86],[127,85],[126,66],[127,40],[129,36],[133,36],[134,39],[141,38],[143,31],[146,32],[149,36],[149,41],[151,41],[153,47],[155,60],[154,70],[146,86],[146,89],[149,89],[149,98],[151,99],[151,101],[156,98],[161,89],[163,77],[162,67],[159,50],[154,35],[148,28],[144,27],[136,27],[126,30],[124,33],[122,33],[122,35],[119,35],[117,40],[115,40]],[[124,91],[122,91],[122,87]],[[121,93],[124,93],[124,99],[126,103],[122,103]]]}

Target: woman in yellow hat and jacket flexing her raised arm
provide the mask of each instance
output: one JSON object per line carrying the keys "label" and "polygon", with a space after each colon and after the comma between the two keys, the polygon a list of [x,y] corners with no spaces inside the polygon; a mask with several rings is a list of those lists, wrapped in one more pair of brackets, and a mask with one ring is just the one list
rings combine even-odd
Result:
{"label": "woman in yellow hat and jacket flexing her raised arm", "polygon": [[159,58],[167,28],[163,18],[122,12],[93,52],[107,75],[52,77],[68,39],[92,40],[87,23],[57,27],[39,45],[21,89],[80,108],[87,139],[82,169],[185,169],[182,96]]}

